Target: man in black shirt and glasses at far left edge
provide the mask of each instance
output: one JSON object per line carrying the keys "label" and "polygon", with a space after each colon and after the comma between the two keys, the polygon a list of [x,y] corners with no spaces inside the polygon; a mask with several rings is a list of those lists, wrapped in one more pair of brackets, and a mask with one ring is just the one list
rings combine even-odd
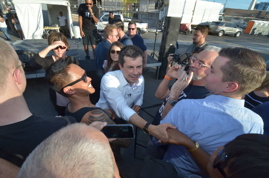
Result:
{"label": "man in black shirt and glasses at far left edge", "polygon": [[8,43],[1,41],[1,44],[0,157],[20,167],[39,143],[76,119],[32,114],[23,97],[25,64]]}

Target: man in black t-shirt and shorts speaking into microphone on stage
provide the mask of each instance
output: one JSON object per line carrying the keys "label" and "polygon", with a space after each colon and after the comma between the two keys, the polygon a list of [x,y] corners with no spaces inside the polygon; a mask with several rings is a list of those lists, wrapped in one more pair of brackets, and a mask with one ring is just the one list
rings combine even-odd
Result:
{"label": "man in black t-shirt and shorts speaking into microphone on stage", "polygon": [[86,0],[85,3],[79,5],[77,10],[79,14],[79,30],[82,37],[82,42],[84,45],[84,50],[86,52],[86,59],[90,59],[89,56],[89,39],[91,42],[91,47],[93,48],[93,58],[95,59],[95,47],[96,47],[96,34],[97,30],[95,23],[99,20],[99,10],[93,5],[93,0]]}

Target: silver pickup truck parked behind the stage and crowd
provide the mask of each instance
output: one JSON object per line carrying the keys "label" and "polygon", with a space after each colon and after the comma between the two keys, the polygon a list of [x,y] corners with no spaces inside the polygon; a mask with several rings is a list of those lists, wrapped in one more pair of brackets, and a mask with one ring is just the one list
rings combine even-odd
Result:
{"label": "silver pickup truck parked behind the stage and crowd", "polygon": [[[128,23],[131,21],[129,18],[123,18],[123,15],[118,12],[114,12],[114,16],[117,19],[121,19],[124,23],[124,32],[128,33]],[[102,12],[102,14],[99,16],[98,24],[97,25],[97,30],[102,31],[105,26],[107,26],[108,23],[108,17],[109,17],[109,12]],[[136,22],[136,28],[138,34],[140,33],[147,33],[148,32],[148,24],[144,22]]]}

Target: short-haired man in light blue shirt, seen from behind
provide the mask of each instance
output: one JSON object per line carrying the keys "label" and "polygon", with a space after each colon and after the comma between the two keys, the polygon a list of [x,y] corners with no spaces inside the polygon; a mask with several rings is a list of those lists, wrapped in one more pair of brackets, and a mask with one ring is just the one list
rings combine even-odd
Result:
{"label": "short-haired man in light blue shirt, seen from behind", "polygon": [[[211,154],[238,135],[263,133],[262,119],[245,108],[243,100],[265,78],[263,57],[247,48],[224,48],[205,73],[204,86],[213,95],[181,100],[161,121],[172,123],[194,141],[186,147],[169,144],[164,156],[164,161],[174,164],[180,177],[192,174],[207,177],[189,153],[199,146]],[[160,144],[155,138],[153,142]]]}

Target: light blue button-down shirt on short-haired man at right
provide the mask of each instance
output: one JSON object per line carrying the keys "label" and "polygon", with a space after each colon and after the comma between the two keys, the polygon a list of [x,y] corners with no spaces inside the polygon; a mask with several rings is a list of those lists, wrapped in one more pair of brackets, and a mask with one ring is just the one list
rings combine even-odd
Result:
{"label": "light blue button-down shirt on short-haired man at right", "polygon": [[[238,135],[263,133],[263,120],[245,108],[244,102],[245,100],[221,95],[181,100],[161,123],[172,123],[211,154]],[[153,143],[158,143],[155,138]],[[164,161],[174,164],[180,177],[189,177],[192,174],[207,177],[184,146],[169,144]]]}

